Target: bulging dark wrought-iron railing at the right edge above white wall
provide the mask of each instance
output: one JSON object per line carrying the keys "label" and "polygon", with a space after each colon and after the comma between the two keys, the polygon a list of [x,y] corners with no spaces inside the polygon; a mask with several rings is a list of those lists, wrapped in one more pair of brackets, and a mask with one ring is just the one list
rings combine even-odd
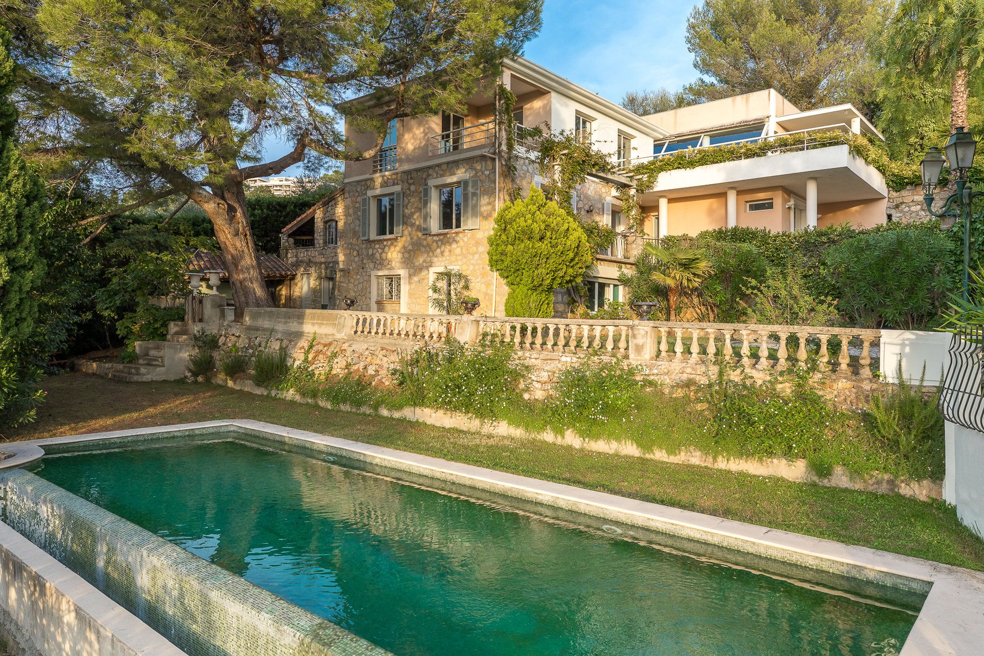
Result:
{"label": "bulging dark wrought-iron railing at the right edge above white wall", "polygon": [[954,332],[940,390],[940,412],[963,428],[984,433],[984,327]]}

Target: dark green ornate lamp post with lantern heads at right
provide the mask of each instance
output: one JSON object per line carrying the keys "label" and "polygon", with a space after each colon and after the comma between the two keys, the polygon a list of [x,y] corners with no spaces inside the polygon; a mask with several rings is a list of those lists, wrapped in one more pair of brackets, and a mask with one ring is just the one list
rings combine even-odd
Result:
{"label": "dark green ornate lamp post with lantern heads at right", "polygon": [[[955,215],[963,221],[963,283],[960,291],[964,302],[970,299],[970,206],[975,199],[984,199],[984,193],[975,192],[967,182],[967,172],[974,163],[976,149],[977,142],[973,136],[964,132],[963,128],[957,128],[944,148],[946,159],[940,149],[933,147],[922,160],[923,200],[926,202],[926,209],[933,216]],[[950,164],[950,172],[956,182],[956,193],[947,199],[943,209],[934,211],[933,192],[940,183],[945,162]]]}

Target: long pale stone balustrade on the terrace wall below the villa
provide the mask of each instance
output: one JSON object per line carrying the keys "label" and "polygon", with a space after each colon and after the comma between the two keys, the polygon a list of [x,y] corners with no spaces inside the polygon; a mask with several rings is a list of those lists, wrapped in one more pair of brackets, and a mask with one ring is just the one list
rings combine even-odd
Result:
{"label": "long pale stone balustrade on the terrace wall below the villa", "polygon": [[[440,343],[510,343],[527,353],[588,354],[640,363],[721,363],[762,372],[816,362],[817,369],[872,378],[882,331],[865,328],[697,324],[580,319],[401,315],[333,310],[247,310],[244,326],[324,336]],[[846,347],[845,347],[846,346]],[[880,351],[879,351],[880,352]],[[876,363],[877,364],[877,363]]]}

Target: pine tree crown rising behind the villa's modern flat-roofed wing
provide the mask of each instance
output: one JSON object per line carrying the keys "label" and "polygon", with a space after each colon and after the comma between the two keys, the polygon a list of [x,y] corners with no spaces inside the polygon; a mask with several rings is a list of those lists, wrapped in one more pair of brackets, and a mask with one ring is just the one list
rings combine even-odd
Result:
{"label": "pine tree crown rising behind the villa's modern flat-roofed wing", "polygon": [[863,99],[887,0],[705,0],[687,21],[707,100],[773,88],[800,109]]}

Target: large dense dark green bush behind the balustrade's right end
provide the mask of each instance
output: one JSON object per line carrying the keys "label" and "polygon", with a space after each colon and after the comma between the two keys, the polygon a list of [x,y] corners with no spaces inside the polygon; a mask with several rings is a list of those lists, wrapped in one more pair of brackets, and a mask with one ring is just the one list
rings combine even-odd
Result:
{"label": "large dense dark green bush behind the balustrade's right end", "polygon": [[921,329],[939,323],[954,279],[946,235],[918,228],[869,232],[830,247],[840,310],[864,328]]}

